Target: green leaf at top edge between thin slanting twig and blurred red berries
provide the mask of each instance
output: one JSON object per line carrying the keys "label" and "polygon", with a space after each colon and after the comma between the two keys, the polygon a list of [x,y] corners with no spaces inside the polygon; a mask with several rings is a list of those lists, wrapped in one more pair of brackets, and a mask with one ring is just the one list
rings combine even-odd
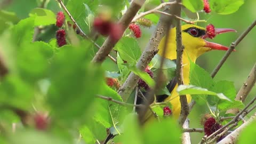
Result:
{"label": "green leaf at top edge between thin slanting twig and blurred red berries", "polygon": [[[67,9],[76,20],[79,27],[85,33],[89,33],[90,27],[89,23],[86,24],[86,18],[91,12],[95,12],[98,5],[98,0],[70,0],[68,1]],[[68,18],[68,15],[66,15],[66,18]]]}

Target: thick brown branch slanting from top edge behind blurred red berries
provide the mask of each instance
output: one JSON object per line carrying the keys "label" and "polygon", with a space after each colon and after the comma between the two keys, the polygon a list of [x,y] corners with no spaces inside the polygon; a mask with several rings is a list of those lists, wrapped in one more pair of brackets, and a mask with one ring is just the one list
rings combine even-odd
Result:
{"label": "thick brown branch slanting from top edge behind blurred red berries", "polygon": [[[140,10],[141,6],[145,3],[145,0],[133,0],[130,7],[124,13],[122,18],[119,20],[119,24],[122,25],[122,34],[124,33],[125,29],[130,25],[133,17],[137,14]],[[110,51],[113,49],[117,41],[113,41],[109,36],[106,41],[101,46],[100,50],[94,55],[92,62],[94,63],[102,63]]]}

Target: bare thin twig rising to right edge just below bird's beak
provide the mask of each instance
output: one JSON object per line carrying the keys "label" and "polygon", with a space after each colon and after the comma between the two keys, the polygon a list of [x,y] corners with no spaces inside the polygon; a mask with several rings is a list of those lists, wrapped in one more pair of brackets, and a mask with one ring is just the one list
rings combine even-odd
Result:
{"label": "bare thin twig rising to right edge just below bird's beak", "polygon": [[218,65],[214,68],[214,70],[212,71],[211,76],[214,77],[218,71],[220,70],[220,68],[222,67],[223,63],[227,60],[227,58],[229,57],[230,53],[235,49],[235,47],[244,39],[244,37],[252,30],[252,28],[256,25],[256,20],[252,23],[251,26],[249,26],[243,34],[241,34],[235,42],[231,43],[228,51],[226,52],[226,54],[223,56],[223,58],[220,60],[220,62],[218,63]]}

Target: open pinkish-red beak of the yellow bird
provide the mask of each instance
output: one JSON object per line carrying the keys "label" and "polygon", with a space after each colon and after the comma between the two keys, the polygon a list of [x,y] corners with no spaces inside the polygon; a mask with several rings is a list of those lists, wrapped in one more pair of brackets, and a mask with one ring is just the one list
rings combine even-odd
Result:
{"label": "open pinkish-red beak of the yellow bird", "polygon": [[[223,33],[228,33],[228,32],[236,32],[236,30],[234,29],[229,29],[229,28],[215,28],[215,34],[223,34]],[[205,34],[202,38],[208,38],[209,36],[207,34]],[[229,49],[229,47],[227,46],[223,46],[217,43],[212,43],[212,42],[208,42],[206,40],[205,41],[205,47],[210,47],[213,50],[222,50],[222,51],[227,51]],[[235,51],[235,50],[233,50]]]}

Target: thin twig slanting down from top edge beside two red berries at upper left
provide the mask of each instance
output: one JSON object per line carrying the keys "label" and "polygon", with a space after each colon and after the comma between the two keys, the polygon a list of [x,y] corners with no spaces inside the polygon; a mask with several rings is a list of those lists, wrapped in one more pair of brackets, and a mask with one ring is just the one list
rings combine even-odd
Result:
{"label": "thin twig slanting down from top edge beside two red berries at upper left", "polygon": [[[68,14],[69,18],[74,22],[74,25],[77,27],[77,34],[81,35],[82,37],[86,38],[86,39],[89,39],[89,41],[91,41],[98,49],[100,49],[100,46],[95,43],[89,36],[87,36],[83,30],[78,26],[76,20],[72,17],[72,15],[70,14],[70,12],[68,11],[67,7],[63,4],[63,2],[61,0],[57,0],[62,9],[65,10],[65,12]],[[116,63],[116,59],[113,58],[110,54],[107,55],[112,61],[114,61]]]}

